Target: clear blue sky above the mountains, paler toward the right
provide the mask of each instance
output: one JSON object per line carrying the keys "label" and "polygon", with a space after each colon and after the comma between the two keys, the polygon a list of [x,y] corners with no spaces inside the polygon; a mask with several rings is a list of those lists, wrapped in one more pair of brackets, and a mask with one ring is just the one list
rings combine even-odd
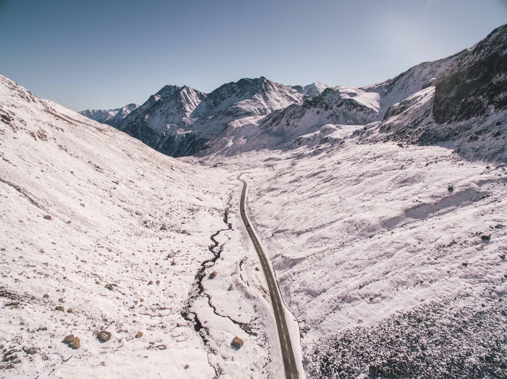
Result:
{"label": "clear blue sky above the mountains, paler toward the right", "polygon": [[74,110],[242,77],[359,86],[504,23],[507,0],[0,0],[0,73]]}

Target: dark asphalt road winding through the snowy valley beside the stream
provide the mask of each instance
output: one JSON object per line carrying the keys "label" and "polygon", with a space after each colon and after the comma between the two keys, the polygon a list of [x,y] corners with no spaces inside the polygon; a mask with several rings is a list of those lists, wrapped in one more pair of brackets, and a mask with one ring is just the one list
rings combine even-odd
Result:
{"label": "dark asphalt road winding through the snowy valley beside the stream", "polygon": [[271,303],[273,304],[273,311],[275,314],[276,328],[278,330],[278,338],[280,339],[280,347],[283,357],[283,367],[285,368],[285,378],[299,379],[298,365],[296,364],[296,360],[294,359],[294,351],[292,350],[291,336],[288,332],[287,322],[285,320],[285,314],[283,313],[282,302],[280,299],[280,293],[278,292],[278,287],[276,286],[275,277],[268,264],[268,259],[259,242],[259,239],[255,235],[255,233],[253,233],[250,222],[246,217],[245,213],[246,182],[241,179],[241,175],[243,174],[238,175],[237,178],[240,182],[243,183],[243,189],[241,190],[241,200],[239,202],[239,211],[241,213],[241,219],[245,224],[246,231],[248,232],[248,236],[253,242],[253,246],[257,250],[257,255],[259,256],[259,260],[261,261],[262,271],[264,271],[264,276],[266,277],[266,281],[268,282],[269,294],[271,296]]}

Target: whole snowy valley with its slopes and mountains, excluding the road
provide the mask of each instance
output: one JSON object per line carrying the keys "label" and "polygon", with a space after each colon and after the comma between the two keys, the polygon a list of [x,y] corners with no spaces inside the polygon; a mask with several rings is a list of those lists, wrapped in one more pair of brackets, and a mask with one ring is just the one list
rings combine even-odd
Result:
{"label": "whole snowy valley with its slopes and mountains, excluding the road", "polygon": [[507,377],[506,54],[81,114],[0,76],[0,372],[286,377],[252,228],[300,378]]}

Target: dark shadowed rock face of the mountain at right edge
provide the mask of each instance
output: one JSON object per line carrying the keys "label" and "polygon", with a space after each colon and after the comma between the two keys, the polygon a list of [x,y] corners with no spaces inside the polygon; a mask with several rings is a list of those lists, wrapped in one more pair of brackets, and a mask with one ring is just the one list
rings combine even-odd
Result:
{"label": "dark shadowed rock face of the mountain at right edge", "polygon": [[463,121],[507,108],[507,25],[463,52],[436,81],[438,123]]}

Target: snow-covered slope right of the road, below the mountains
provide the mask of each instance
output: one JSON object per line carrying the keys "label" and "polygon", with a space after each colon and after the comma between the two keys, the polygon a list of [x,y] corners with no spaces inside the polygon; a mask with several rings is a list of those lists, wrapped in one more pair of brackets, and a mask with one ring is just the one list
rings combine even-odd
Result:
{"label": "snow-covered slope right of the road, below the mountains", "polygon": [[335,128],[338,146],[208,158],[249,172],[306,375],[507,377],[505,164]]}

